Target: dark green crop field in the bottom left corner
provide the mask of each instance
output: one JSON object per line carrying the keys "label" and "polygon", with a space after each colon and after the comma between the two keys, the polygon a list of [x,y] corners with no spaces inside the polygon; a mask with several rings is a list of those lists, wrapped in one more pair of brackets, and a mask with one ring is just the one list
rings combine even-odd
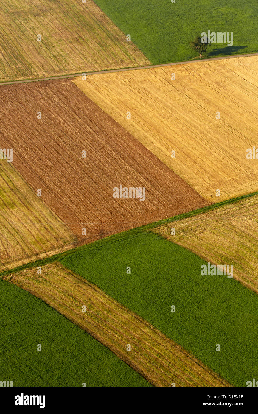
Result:
{"label": "dark green crop field in the bottom left corner", "polygon": [[0,352],[0,380],[14,387],[151,386],[46,303],[2,280]]}

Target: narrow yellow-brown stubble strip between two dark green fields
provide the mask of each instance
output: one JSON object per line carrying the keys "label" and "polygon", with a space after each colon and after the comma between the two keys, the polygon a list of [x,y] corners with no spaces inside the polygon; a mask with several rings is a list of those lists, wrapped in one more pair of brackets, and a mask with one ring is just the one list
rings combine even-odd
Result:
{"label": "narrow yellow-brown stubble strip between two dark green fields", "polygon": [[[162,332],[59,262],[5,280],[39,297],[89,332],[157,387],[228,387],[227,381]],[[85,312],[82,312],[85,306]],[[126,347],[130,344],[131,351]]]}

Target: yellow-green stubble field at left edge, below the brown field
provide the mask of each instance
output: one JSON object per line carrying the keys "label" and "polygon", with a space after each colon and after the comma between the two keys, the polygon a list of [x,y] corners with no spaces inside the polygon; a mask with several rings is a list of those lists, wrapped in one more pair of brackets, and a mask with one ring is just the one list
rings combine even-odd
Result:
{"label": "yellow-green stubble field at left edge, below the brown field", "polygon": [[0,160],[0,271],[68,250],[76,242],[12,164]]}

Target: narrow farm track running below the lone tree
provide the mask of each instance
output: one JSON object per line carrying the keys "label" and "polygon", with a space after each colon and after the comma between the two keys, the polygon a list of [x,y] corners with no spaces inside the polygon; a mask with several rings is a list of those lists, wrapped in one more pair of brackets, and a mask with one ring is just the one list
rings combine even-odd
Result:
{"label": "narrow farm track running below the lone tree", "polygon": [[184,60],[182,62],[173,62],[173,63],[161,63],[159,65],[148,65],[148,66],[137,66],[137,67],[121,67],[120,69],[107,69],[107,70],[99,70],[95,72],[77,72],[70,75],[59,75],[59,76],[49,76],[44,78],[34,78],[34,79],[22,79],[22,80],[11,80],[7,82],[0,81],[1,85],[11,85],[16,83],[27,83],[27,82],[40,82],[43,80],[54,80],[54,79],[66,79],[70,77],[80,77],[82,73],[86,73],[86,76],[91,75],[104,75],[105,73],[114,73],[114,72],[125,72],[128,70],[140,70],[140,69],[154,69],[156,67],[164,67],[164,66],[175,66],[175,65],[188,65],[189,63],[193,62],[207,62],[210,60],[222,60],[222,59],[232,59],[232,58],[245,58],[248,56],[258,56],[258,53],[246,53],[242,55],[229,55],[229,56],[220,56],[218,58],[205,58],[205,59],[192,59],[192,60]]}

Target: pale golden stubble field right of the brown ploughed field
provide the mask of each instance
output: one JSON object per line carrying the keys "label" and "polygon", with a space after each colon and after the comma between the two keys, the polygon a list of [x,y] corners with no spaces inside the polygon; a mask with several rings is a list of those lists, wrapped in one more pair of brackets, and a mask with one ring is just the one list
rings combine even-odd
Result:
{"label": "pale golden stubble field right of the brown ploughed field", "polygon": [[246,159],[258,147],[258,56],[74,82],[207,200],[258,190],[258,160]]}

